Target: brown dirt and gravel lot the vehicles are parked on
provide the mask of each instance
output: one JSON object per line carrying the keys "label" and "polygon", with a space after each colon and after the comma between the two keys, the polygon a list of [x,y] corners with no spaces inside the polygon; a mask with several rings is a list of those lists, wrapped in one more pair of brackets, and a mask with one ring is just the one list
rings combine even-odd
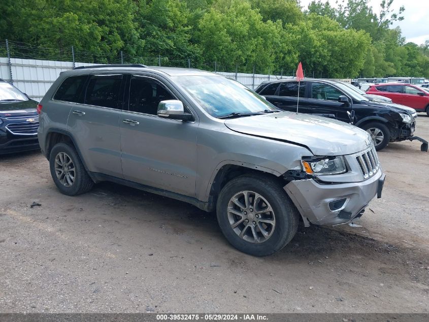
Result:
{"label": "brown dirt and gravel lot the vehicles are parked on", "polygon": [[[429,138],[423,114],[416,134]],[[188,204],[110,183],[64,196],[40,152],[0,156],[0,311],[428,312],[419,146],[379,153],[383,198],[362,227],[301,227],[264,258],[236,251],[215,216]]]}

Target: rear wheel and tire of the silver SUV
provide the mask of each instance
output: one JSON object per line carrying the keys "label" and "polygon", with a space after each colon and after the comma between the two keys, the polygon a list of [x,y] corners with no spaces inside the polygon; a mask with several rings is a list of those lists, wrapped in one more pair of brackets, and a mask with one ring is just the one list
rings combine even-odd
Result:
{"label": "rear wheel and tire of the silver SUV", "polygon": [[[69,161],[71,162],[65,165]],[[76,196],[91,190],[94,185],[76,149],[69,143],[62,142],[54,145],[49,155],[49,168],[55,185],[63,194]]]}

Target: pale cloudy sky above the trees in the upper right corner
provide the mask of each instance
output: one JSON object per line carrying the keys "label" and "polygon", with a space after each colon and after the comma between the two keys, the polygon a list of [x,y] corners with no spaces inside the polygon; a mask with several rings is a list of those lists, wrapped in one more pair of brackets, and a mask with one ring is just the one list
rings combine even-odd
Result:
{"label": "pale cloudy sky above the trees in the upper right corner", "polygon": [[[301,0],[301,6],[307,9],[311,1]],[[326,0],[321,1],[326,2]],[[335,6],[336,0],[328,1],[332,6]],[[369,3],[372,5],[373,11],[379,14],[381,0],[369,0]],[[429,40],[429,0],[394,0],[391,8],[398,12],[401,6],[405,7],[402,14],[404,20],[394,22],[391,28],[400,26],[402,36],[407,39],[407,42],[420,45]]]}

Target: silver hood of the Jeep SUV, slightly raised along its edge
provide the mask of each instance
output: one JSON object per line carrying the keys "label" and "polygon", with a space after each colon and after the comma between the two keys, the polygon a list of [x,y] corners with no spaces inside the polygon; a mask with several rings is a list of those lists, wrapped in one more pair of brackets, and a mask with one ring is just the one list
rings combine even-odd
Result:
{"label": "silver hood of the Jeep SUV, slightly raised along its edge", "polygon": [[353,125],[309,114],[279,112],[230,119],[236,132],[304,145],[313,155],[347,155],[369,147],[371,138]]}

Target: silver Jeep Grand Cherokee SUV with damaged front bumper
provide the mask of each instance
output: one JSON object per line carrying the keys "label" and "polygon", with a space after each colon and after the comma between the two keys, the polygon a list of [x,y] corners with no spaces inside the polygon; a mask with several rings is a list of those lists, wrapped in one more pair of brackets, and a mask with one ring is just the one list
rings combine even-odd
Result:
{"label": "silver Jeep Grand Cherokee SUV with damaged front bumper", "polygon": [[384,173],[367,132],[278,110],[237,81],[194,69],[107,65],[63,72],[40,102],[53,181],[101,181],[216,211],[239,250],[269,255],[306,226],[361,216]]}

